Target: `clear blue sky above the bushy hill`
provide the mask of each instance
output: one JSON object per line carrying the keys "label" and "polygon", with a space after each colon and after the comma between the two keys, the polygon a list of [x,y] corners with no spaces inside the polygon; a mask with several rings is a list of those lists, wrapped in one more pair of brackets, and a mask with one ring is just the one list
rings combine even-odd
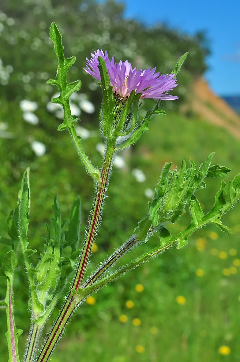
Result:
{"label": "clear blue sky above the bushy hill", "polygon": [[210,69],[205,73],[205,78],[215,93],[222,96],[240,96],[239,0],[120,2],[125,3],[125,18],[134,18],[149,26],[155,22],[167,22],[172,28],[188,34],[206,30],[211,55],[207,57]]}

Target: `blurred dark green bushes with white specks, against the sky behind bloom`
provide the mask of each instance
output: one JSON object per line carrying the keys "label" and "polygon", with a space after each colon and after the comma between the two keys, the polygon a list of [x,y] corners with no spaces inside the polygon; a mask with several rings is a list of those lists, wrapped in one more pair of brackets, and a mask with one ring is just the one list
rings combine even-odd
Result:
{"label": "blurred dark green bushes with white specks, against the sky behind bloom", "polygon": [[122,4],[112,0],[103,4],[95,0],[2,0],[0,83],[4,87],[0,97],[17,102],[27,97],[43,106],[55,92],[46,85],[56,64],[49,39],[50,24],[55,21],[64,35],[66,56],[77,56],[72,75],[82,80],[81,92],[97,108],[101,93],[82,66],[85,56],[89,58],[90,52],[99,48],[106,49],[117,61],[128,59],[137,68],[156,67],[161,73],[171,72],[180,56],[189,51],[179,73],[180,87],[175,90],[182,98],[189,81],[206,70],[204,58],[209,50],[203,46],[203,33],[190,37],[161,24],[147,28],[137,21],[125,20],[123,9]]}

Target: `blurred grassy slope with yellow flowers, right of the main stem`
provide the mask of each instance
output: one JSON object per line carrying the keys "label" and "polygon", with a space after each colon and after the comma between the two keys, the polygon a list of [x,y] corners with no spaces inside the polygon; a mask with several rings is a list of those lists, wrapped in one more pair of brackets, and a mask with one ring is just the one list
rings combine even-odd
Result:
{"label": "blurred grassy slope with yellow flowers, right of the main stem", "polygon": [[[139,184],[138,190],[126,189],[126,178],[130,182],[132,178],[130,172],[113,173],[104,211],[106,216],[111,215],[110,224],[114,225],[109,239],[114,244],[117,242],[123,205],[128,207],[122,217],[125,220],[136,211],[144,215],[143,191],[154,187],[166,161],[173,160],[179,166],[182,158],[192,158],[200,163],[211,151],[216,152],[214,163],[232,168],[231,176],[239,172],[240,144],[226,131],[177,114],[153,119],[150,131],[129,159],[129,169],[142,169],[146,181]],[[207,189],[198,192],[204,211],[213,205],[219,186],[220,180],[209,179]],[[131,198],[129,201],[133,193],[142,200],[142,205],[134,205]],[[108,205],[112,204],[113,197],[115,208],[110,212]],[[172,248],[94,295],[93,306],[85,303],[76,312],[74,325],[67,327],[66,338],[60,342],[53,361],[78,361],[76,355],[81,356],[81,361],[238,361],[240,270],[234,268],[233,261],[240,257],[239,216],[240,205],[225,216],[233,235],[226,236],[215,227],[204,228],[190,238],[187,247],[180,251]],[[180,231],[187,218],[180,225],[172,226],[172,231]],[[125,229],[128,231],[131,227],[126,225]],[[101,235],[100,232],[100,241]],[[142,251],[148,248],[141,247]],[[140,250],[134,252],[135,256],[139,253]],[[96,253],[93,260],[97,259]],[[234,263],[238,265],[237,261]],[[203,276],[196,275],[198,269],[203,270]],[[230,270],[230,275],[225,269]],[[137,283],[144,286],[143,292],[134,289]],[[177,296],[184,296],[185,304],[178,304]],[[132,309],[125,306],[127,300],[133,301]],[[127,315],[126,323],[118,320],[121,314]],[[140,326],[133,325],[134,318],[141,320]],[[137,345],[142,345],[145,351],[136,352]],[[229,356],[219,354],[221,345],[230,347]]]}

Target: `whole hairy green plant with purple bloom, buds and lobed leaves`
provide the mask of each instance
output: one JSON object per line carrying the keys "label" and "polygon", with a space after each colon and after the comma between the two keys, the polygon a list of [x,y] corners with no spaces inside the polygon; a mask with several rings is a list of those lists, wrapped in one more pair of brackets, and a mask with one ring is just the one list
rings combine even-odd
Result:
{"label": "whole hairy green plant with purple bloom, buds and lobed leaves", "polygon": [[[14,323],[13,313],[13,276],[18,265],[18,255],[23,254],[25,272],[29,283],[29,310],[31,310],[31,326],[26,351],[21,359],[24,362],[46,362],[50,358],[57,341],[64,332],[74,310],[80,307],[83,301],[94,291],[114,281],[173,245],[180,249],[188,243],[188,237],[201,227],[213,223],[223,232],[231,234],[231,230],[222,224],[221,218],[230,210],[240,197],[240,174],[227,184],[222,181],[220,190],[215,196],[212,209],[204,214],[194,193],[204,189],[205,177],[222,177],[229,168],[220,165],[210,165],[214,153],[199,166],[190,160],[187,168],[182,161],[178,170],[170,170],[171,163],[166,163],[156,184],[154,196],[148,205],[148,212],[132,235],[125,243],[119,241],[117,248],[98,268],[86,278],[86,266],[90,258],[93,241],[96,240],[96,231],[99,226],[104,196],[111,176],[111,165],[117,152],[132,146],[142,134],[148,130],[153,115],[164,115],[159,109],[162,100],[175,100],[177,97],[168,94],[177,86],[176,76],[188,53],[184,54],[170,75],[160,75],[154,69],[132,70],[132,65],[125,62],[110,60],[107,52],[102,50],[91,54],[87,59],[85,71],[99,80],[102,88],[103,102],[100,108],[100,132],[105,141],[105,152],[102,168],[98,169],[82,148],[81,138],[77,136],[74,124],[80,119],[71,114],[69,97],[81,88],[81,81],[67,83],[67,73],[75,61],[75,56],[64,58],[62,38],[55,23],[50,28],[50,38],[54,43],[54,50],[58,58],[58,67],[55,79],[48,84],[59,88],[60,94],[52,102],[60,104],[64,110],[63,122],[58,130],[67,130],[70,134],[77,154],[87,173],[95,183],[94,205],[90,212],[89,225],[85,239],[80,242],[81,201],[80,197],[73,202],[69,219],[61,219],[61,210],[57,195],[53,202],[53,218],[51,219],[54,233],[46,225],[47,233],[44,238],[44,252],[40,254],[37,265],[33,265],[31,256],[37,253],[27,237],[30,222],[30,172],[25,171],[21,189],[18,194],[17,207],[10,212],[7,218],[9,238],[0,237],[2,244],[9,246],[0,269],[1,276],[7,277],[6,297],[0,302],[7,311],[7,341],[9,362],[19,362],[18,338],[22,333]],[[138,111],[142,98],[157,99],[157,103],[149,109],[141,121]],[[183,213],[189,210],[191,221],[180,233],[171,235],[167,230],[168,223],[175,223]],[[108,269],[133,247],[147,243],[154,233],[159,234],[159,244],[140,255],[130,264],[124,265],[111,274]],[[96,240],[97,241],[97,240]],[[66,256],[65,248],[71,248],[70,256]],[[60,296],[65,295],[64,305],[48,335],[41,341],[41,332],[46,320],[56,307]],[[44,342],[43,342],[44,341]],[[40,348],[39,348],[40,347]]]}

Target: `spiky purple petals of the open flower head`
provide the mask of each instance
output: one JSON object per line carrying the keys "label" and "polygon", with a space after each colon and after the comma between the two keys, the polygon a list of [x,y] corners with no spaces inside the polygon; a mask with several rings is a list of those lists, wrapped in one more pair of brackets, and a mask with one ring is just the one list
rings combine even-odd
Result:
{"label": "spiky purple petals of the open flower head", "polygon": [[[174,74],[162,74],[155,73],[156,68],[147,68],[146,70],[132,70],[132,64],[126,60],[119,63],[116,63],[114,56],[112,60],[108,58],[107,51],[105,54],[102,50],[97,50],[91,53],[91,59],[87,59],[86,69],[83,68],[87,73],[91,74],[93,77],[97,78],[99,81],[100,72],[98,69],[98,57],[101,56],[107,67],[107,72],[110,77],[110,83],[113,87],[113,92],[116,92],[120,97],[129,97],[133,89],[135,89],[135,94],[142,93],[141,98],[155,98],[155,99],[168,99],[173,100],[177,99],[176,96],[170,96],[168,94],[163,94],[175,88],[176,78],[173,79]],[[147,88],[147,89],[146,89]],[[146,90],[145,90],[146,89]]]}

